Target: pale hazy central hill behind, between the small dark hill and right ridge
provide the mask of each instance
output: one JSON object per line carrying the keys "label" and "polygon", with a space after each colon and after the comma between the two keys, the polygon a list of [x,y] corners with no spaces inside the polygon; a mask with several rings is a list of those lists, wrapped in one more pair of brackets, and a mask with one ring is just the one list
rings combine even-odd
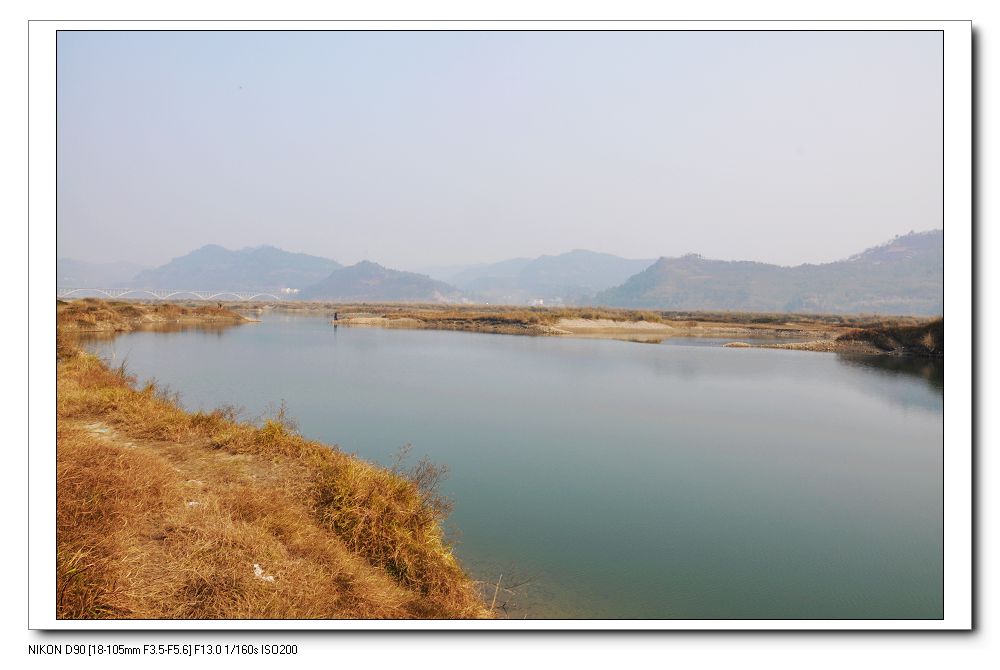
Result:
{"label": "pale hazy central hill behind, between the small dark hill and right ridge", "polygon": [[471,267],[456,273],[451,283],[482,302],[574,304],[620,284],[652,262],[574,249],[557,256],[512,258]]}

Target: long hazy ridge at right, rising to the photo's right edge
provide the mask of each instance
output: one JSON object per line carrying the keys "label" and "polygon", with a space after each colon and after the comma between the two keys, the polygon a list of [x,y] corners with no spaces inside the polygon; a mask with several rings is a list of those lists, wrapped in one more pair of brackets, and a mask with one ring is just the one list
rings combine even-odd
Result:
{"label": "long hazy ridge at right, rising to the photo's right edge", "polygon": [[689,254],[660,258],[598,305],[763,312],[941,314],[944,232],[909,233],[846,260],[784,267]]}

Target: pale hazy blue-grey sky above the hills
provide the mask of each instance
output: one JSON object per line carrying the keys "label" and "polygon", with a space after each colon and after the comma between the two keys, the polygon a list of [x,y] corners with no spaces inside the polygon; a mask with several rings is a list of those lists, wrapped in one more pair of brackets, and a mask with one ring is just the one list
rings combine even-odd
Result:
{"label": "pale hazy blue-grey sky above the hills", "polygon": [[58,253],[781,264],[941,227],[937,32],[60,32]]}

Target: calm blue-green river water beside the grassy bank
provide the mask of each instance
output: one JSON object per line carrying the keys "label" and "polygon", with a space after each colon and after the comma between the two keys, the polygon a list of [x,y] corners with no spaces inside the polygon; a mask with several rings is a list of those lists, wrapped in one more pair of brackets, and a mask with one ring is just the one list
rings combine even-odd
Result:
{"label": "calm blue-green river water beside the grassy bank", "polygon": [[[940,363],[271,315],[92,350],[308,437],[447,465],[512,617],[940,618]],[[490,591],[492,595],[492,590]]]}

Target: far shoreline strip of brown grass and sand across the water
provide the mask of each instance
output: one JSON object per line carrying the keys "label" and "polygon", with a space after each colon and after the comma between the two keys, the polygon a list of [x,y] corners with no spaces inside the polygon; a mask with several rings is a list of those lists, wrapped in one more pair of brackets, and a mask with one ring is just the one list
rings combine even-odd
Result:
{"label": "far shoreline strip of brown grass and sand across the water", "polygon": [[[112,310],[114,319],[94,319]],[[245,314],[322,316],[334,327],[450,330],[533,337],[661,343],[672,338],[730,340],[734,349],[785,349],[865,355],[943,357],[941,317],[630,310],[413,303],[144,302],[81,298],[57,302],[64,330],[127,332],[173,324],[225,327],[252,323]],[[126,314],[127,312],[127,314]],[[242,313],[242,314],[240,314]],[[765,340],[747,342],[745,340]]]}

